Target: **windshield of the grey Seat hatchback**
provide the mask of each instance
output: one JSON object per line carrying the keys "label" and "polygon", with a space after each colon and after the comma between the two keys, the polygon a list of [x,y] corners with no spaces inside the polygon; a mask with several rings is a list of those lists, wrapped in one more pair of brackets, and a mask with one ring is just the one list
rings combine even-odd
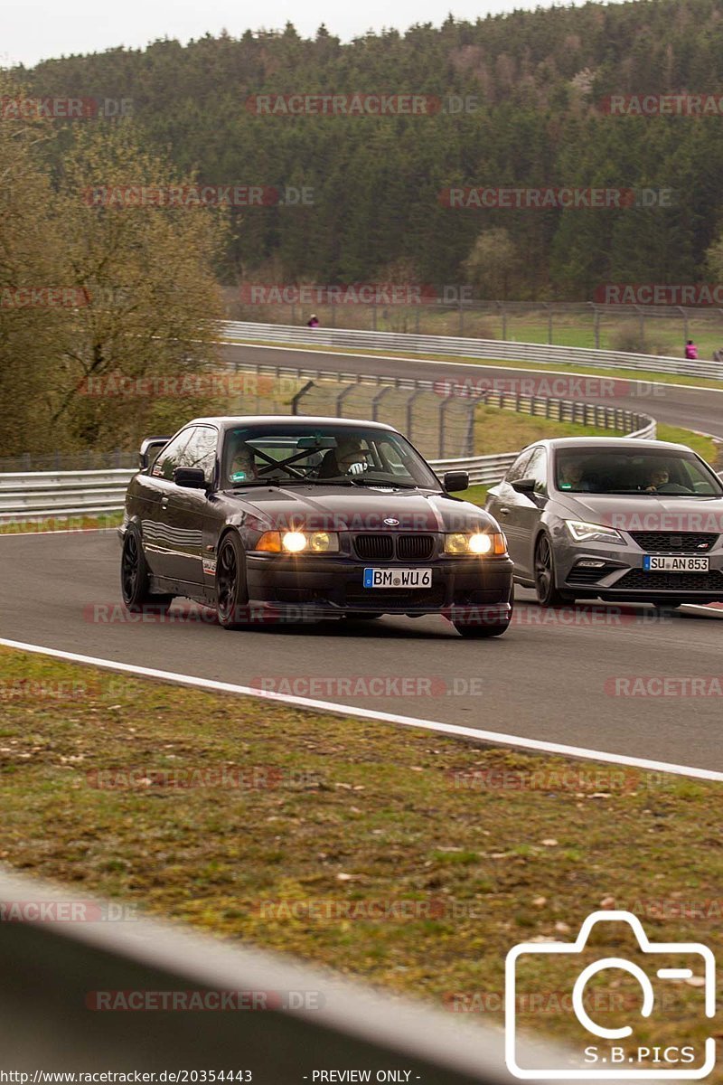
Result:
{"label": "windshield of the grey Seat hatchback", "polygon": [[560,449],[555,457],[555,485],[572,494],[723,496],[723,486],[693,452],[669,449]]}

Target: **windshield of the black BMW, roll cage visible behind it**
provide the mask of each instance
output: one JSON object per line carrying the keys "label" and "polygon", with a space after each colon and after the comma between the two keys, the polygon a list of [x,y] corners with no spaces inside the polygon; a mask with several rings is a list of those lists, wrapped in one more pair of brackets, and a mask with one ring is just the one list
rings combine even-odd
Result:
{"label": "windshield of the black BMW, roll cage visible behind it", "polygon": [[233,486],[338,483],[440,488],[401,434],[294,421],[229,430],[223,478]]}

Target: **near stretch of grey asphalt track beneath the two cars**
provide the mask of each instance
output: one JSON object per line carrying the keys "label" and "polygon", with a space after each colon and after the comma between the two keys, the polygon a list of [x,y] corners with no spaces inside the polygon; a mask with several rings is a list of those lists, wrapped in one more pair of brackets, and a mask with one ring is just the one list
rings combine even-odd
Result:
{"label": "near stretch of grey asphalt track beneath the two cars", "polygon": [[[723,770],[723,611],[605,604],[542,611],[517,589],[504,637],[442,617],[227,631],[177,601],[158,622],[120,605],[114,531],[0,537],[0,637],[612,754]],[[183,612],[191,611],[189,621]],[[208,613],[207,613],[208,617]],[[336,685],[325,685],[330,676]],[[660,679],[669,691],[660,695]],[[689,679],[702,678],[696,695]],[[388,678],[379,691],[373,680]],[[637,678],[637,686],[625,686]],[[640,679],[643,679],[641,687]],[[321,685],[311,686],[313,679]],[[344,687],[347,679],[347,688]],[[395,688],[411,679],[412,689]],[[681,679],[681,681],[677,681]],[[349,692],[353,680],[357,695]],[[286,685],[284,685],[284,681]],[[281,685],[280,685],[281,684]],[[672,691],[671,691],[672,684]],[[363,691],[359,692],[360,686]],[[621,695],[648,690],[646,695]],[[712,695],[710,692],[712,690]],[[263,706],[260,705],[260,712]]]}

